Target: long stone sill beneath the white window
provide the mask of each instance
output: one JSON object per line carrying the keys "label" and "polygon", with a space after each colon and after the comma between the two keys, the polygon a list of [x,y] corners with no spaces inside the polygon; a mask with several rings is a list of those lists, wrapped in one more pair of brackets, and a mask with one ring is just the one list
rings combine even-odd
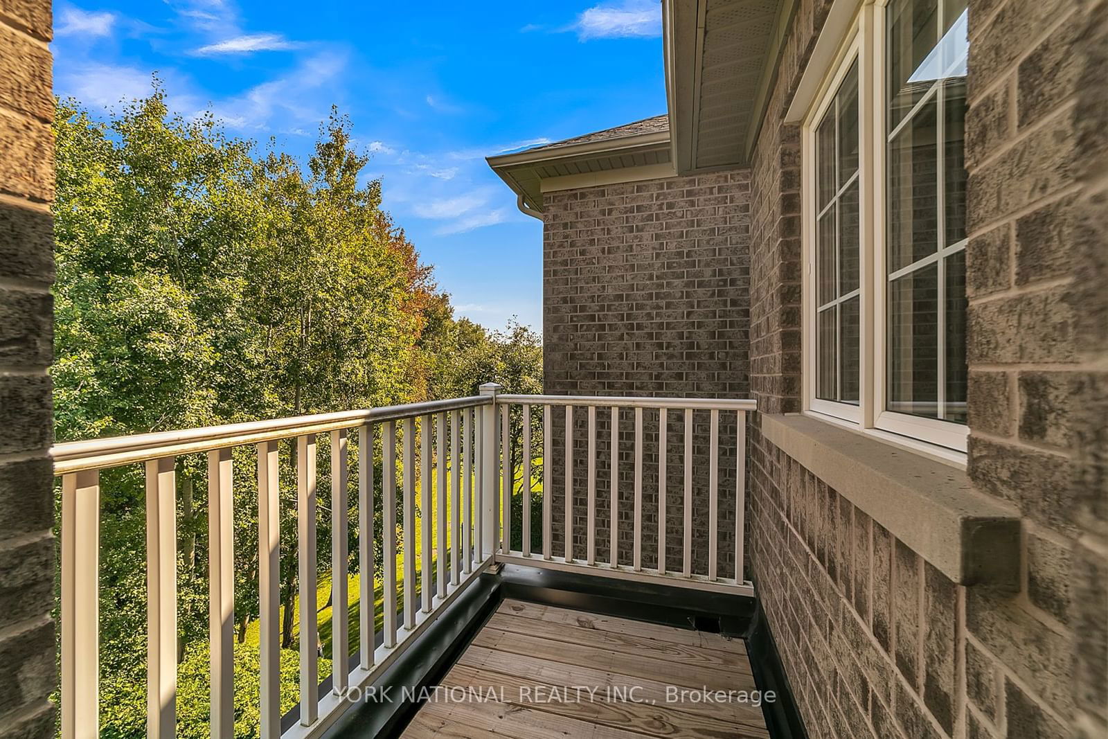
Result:
{"label": "long stone sill beneath the white window", "polygon": [[1019,515],[964,470],[811,417],[758,418],[767,440],[953,582],[1018,586]]}

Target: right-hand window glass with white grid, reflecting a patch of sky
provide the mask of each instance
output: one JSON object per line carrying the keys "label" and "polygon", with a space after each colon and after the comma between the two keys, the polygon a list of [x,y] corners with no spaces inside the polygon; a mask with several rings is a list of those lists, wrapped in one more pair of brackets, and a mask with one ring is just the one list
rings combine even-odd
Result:
{"label": "right-hand window glass with white grid, reflecting a patch of sky", "polygon": [[888,9],[888,410],[965,423],[965,0]]}

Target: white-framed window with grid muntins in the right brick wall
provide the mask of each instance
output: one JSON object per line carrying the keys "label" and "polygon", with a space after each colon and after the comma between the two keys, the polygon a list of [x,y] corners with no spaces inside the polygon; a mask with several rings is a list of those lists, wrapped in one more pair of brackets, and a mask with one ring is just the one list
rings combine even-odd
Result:
{"label": "white-framed window with grid muntins in the right brick wall", "polygon": [[966,19],[862,6],[803,126],[806,407],[961,451]]}

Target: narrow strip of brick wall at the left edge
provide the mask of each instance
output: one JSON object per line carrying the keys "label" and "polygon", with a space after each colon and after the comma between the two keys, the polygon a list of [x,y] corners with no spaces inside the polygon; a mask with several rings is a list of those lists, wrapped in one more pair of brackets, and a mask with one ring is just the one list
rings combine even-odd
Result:
{"label": "narrow strip of brick wall at the left edge", "polygon": [[49,0],[0,0],[0,737],[52,737]]}

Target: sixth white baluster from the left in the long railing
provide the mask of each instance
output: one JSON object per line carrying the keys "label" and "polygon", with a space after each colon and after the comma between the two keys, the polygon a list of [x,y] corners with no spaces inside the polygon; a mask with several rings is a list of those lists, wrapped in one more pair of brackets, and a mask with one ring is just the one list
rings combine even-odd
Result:
{"label": "sixth white baluster from the left in the long railing", "polygon": [[347,486],[349,440],[346,429],[331,431],[331,686],[349,685],[350,613],[347,589]]}

